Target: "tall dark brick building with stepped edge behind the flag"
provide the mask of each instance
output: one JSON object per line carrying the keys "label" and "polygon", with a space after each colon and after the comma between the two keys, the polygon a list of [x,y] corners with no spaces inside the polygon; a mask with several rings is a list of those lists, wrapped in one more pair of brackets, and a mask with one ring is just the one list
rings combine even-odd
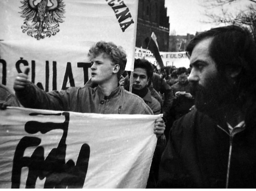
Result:
{"label": "tall dark brick building with stepped edge behind the flag", "polygon": [[144,40],[154,32],[159,50],[169,51],[169,17],[164,3],[165,0],[139,0],[136,47],[146,48]]}

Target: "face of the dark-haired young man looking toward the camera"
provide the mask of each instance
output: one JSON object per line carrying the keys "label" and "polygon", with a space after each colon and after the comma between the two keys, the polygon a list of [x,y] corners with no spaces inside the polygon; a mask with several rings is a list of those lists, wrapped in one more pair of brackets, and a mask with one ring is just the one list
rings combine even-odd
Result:
{"label": "face of the dark-haired young man looking toward the camera", "polygon": [[135,90],[141,90],[148,85],[148,76],[145,68],[134,68],[133,72],[133,85],[132,88]]}

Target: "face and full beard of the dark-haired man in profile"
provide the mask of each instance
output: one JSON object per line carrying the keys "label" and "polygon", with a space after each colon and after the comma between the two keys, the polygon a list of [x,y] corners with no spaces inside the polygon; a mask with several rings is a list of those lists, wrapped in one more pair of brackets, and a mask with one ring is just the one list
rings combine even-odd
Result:
{"label": "face and full beard of the dark-haired man in profile", "polygon": [[204,113],[217,112],[221,104],[230,99],[232,88],[226,76],[221,76],[211,58],[209,46],[212,38],[204,39],[193,49],[190,57],[191,73],[188,81],[193,84],[196,108]]}

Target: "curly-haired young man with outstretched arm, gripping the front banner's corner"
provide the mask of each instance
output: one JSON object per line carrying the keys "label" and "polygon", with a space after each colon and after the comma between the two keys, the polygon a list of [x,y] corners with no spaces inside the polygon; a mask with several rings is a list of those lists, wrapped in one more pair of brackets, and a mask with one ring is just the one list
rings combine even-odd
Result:
{"label": "curly-haired young man with outstretched arm, gripping the front banner's corner", "polygon": [[[13,88],[24,107],[100,114],[148,114],[153,112],[139,96],[118,85],[127,62],[126,53],[113,43],[97,42],[88,52],[93,86],[70,87],[44,92],[28,81],[28,70],[15,78]],[[154,123],[154,133],[161,137],[162,118]]]}

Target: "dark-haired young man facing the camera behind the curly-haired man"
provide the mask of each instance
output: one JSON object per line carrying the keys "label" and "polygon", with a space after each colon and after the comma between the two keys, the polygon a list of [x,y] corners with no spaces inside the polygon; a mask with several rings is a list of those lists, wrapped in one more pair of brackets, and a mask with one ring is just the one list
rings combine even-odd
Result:
{"label": "dark-haired young man facing the camera behind the curly-haired man", "polygon": [[[134,71],[133,71],[133,84],[132,93],[140,96],[145,103],[152,109],[154,115],[160,114],[161,105],[157,99],[155,99],[150,90],[148,89],[149,81],[153,76],[153,68],[151,63],[145,59],[135,59]],[[128,72],[129,80],[131,78],[131,72]],[[125,87],[129,91],[129,84]]]}

